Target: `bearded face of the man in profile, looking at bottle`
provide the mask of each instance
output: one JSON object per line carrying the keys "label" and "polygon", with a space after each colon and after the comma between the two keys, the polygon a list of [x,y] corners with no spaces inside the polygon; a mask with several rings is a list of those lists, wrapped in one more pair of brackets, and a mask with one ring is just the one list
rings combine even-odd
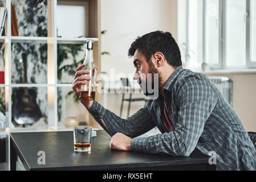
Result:
{"label": "bearded face of the man in profile, looking at bottle", "polygon": [[[133,64],[136,68],[133,79],[137,80],[138,84],[143,90],[143,93],[146,96],[153,95],[156,93],[155,89],[157,89],[158,93],[160,84],[159,72],[157,71],[155,65],[152,63],[152,60],[147,61],[143,53],[136,51],[135,55],[133,56]],[[158,77],[154,77],[156,74]],[[149,92],[151,89],[154,89],[154,92]]]}

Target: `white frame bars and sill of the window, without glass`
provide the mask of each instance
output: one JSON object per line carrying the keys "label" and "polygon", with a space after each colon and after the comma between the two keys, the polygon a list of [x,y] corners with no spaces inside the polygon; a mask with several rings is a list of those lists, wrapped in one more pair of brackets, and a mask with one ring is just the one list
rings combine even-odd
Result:
{"label": "white frame bars and sill of the window, without glass", "polygon": [[[226,15],[226,10],[227,10],[227,1],[225,0],[219,0],[219,35],[220,38],[218,40],[219,42],[219,61],[218,64],[209,64],[209,59],[208,59],[208,22],[207,22],[207,13],[208,13],[208,2],[209,1],[204,1],[203,3],[203,62],[202,64],[206,64],[207,68],[210,70],[220,70],[220,69],[255,69],[256,68],[256,62],[252,61],[253,59],[253,40],[252,40],[252,36],[253,36],[253,30],[252,30],[252,26],[253,26],[253,16],[251,16],[251,8],[253,7],[253,2],[254,0],[246,0],[246,10],[245,10],[245,16],[246,16],[246,65],[245,67],[227,67],[227,60],[226,60],[226,54],[227,54],[227,45],[226,45],[226,26],[227,26],[227,15]],[[190,3],[189,0],[186,0],[186,7],[185,9],[187,10],[187,12],[190,11]],[[189,25],[191,22],[189,22],[189,16],[187,16],[186,19],[186,25],[187,25],[187,32],[186,32],[186,36],[187,36],[187,40],[186,40],[186,45],[189,45]],[[256,46],[256,44],[255,44]],[[187,47],[188,50],[188,47]],[[188,51],[186,51],[186,56],[184,57],[185,62],[189,61],[188,59]],[[204,69],[204,68],[202,68]]]}

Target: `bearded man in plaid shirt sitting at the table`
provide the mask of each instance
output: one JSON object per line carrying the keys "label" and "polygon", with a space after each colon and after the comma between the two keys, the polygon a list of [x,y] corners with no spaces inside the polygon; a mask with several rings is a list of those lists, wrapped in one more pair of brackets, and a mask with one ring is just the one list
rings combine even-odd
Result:
{"label": "bearded man in plaid shirt sitting at the table", "polygon": [[[238,115],[205,75],[182,68],[180,49],[169,32],[137,38],[128,56],[133,56],[134,79],[149,96],[147,105],[122,119],[97,101],[81,101],[111,135],[111,149],[172,156],[214,151],[217,170],[256,170],[256,150]],[[78,96],[80,85],[90,80],[82,76],[88,74],[83,67],[73,81]],[[138,137],[154,127],[161,134]]]}

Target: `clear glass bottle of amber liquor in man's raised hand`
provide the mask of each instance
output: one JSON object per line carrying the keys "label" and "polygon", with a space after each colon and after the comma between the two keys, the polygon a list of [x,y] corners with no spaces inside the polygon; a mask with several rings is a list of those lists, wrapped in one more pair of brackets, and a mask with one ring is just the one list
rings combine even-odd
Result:
{"label": "clear glass bottle of amber liquor in man's raised hand", "polygon": [[80,86],[80,100],[85,101],[93,101],[95,100],[95,92],[96,92],[96,74],[97,70],[94,64],[94,56],[93,56],[93,44],[94,41],[89,39],[87,40],[87,48],[86,48],[86,58],[84,59],[84,63],[86,66],[83,70],[87,70],[90,73],[83,75],[90,77],[91,80],[87,81],[86,85]]}

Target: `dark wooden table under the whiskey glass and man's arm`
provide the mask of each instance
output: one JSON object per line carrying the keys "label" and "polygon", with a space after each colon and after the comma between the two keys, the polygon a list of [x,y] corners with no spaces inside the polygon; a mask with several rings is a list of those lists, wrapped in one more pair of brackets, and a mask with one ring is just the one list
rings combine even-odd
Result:
{"label": "dark wooden table under the whiskey glass and man's arm", "polygon": [[[146,154],[109,149],[111,137],[97,131],[92,151],[77,153],[72,131],[10,133],[11,170],[16,170],[17,155],[26,170],[214,170],[209,156],[194,151],[189,157]],[[45,153],[45,164],[38,159]]]}

